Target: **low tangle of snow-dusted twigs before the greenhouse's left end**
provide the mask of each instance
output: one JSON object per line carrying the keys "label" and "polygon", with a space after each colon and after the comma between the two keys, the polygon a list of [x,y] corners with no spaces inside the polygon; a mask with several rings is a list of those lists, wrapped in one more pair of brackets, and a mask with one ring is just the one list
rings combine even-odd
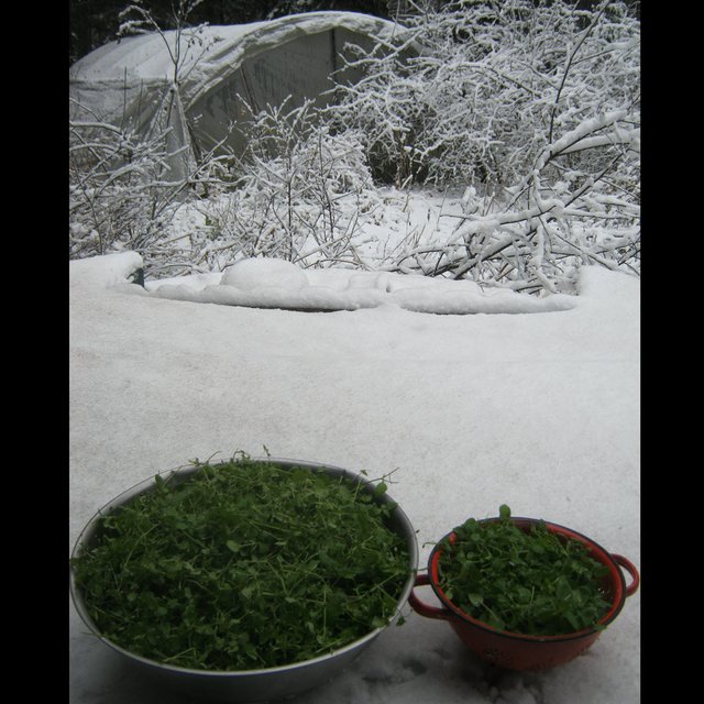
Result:
{"label": "low tangle of snow-dusted twigs before the greenhouse's left end", "polygon": [[196,164],[169,142],[169,128],[148,134],[73,106],[69,119],[69,258],[139,252],[150,274],[190,273],[184,238],[173,237],[184,202],[231,182],[227,153]]}

